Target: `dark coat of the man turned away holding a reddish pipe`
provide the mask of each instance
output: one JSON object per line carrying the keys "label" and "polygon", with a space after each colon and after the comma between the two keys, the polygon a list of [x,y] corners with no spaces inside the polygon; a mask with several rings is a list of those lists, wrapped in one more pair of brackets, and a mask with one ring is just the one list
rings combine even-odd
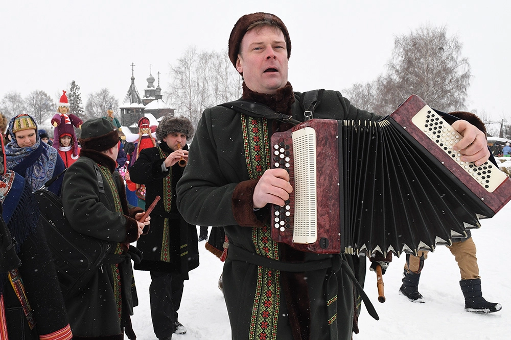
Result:
{"label": "dark coat of the man turned away holding a reddish pipe", "polygon": [[[122,214],[115,212],[116,197],[103,174],[101,177],[104,192],[100,192],[96,172],[99,170],[98,164],[107,166],[113,174]],[[67,169],[62,185],[62,203],[71,226],[83,234],[111,242],[110,253],[119,243],[129,244],[137,240],[138,227],[134,216],[137,212],[142,212],[138,207],[128,206],[124,182],[114,170],[115,162],[107,155],[82,148],[80,158]],[[130,246],[130,250],[132,249],[136,248]],[[85,288],[66,299],[69,323],[75,336],[121,340],[124,338],[123,332],[129,334],[129,316],[133,315],[132,308],[137,305],[137,300],[136,292],[132,292],[134,284],[130,252],[124,251],[123,255],[125,257],[119,264],[119,275],[112,272],[112,265],[105,264],[105,259]],[[122,284],[121,308],[124,325],[120,324],[114,298],[114,282],[119,279]]]}

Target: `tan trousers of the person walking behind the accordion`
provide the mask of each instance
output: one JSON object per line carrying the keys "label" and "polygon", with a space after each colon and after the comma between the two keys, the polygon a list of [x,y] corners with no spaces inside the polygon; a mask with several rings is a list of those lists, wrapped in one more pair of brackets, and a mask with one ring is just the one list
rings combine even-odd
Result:
{"label": "tan trousers of the person walking behind the accordion", "polygon": [[[477,266],[476,245],[472,238],[462,242],[454,242],[452,246],[447,246],[447,248],[449,248],[458,263],[462,280],[480,278],[479,267]],[[405,263],[405,271],[408,273],[419,273],[421,255],[424,256],[424,259],[428,258],[428,251],[419,251],[419,256],[410,255],[407,263]]]}

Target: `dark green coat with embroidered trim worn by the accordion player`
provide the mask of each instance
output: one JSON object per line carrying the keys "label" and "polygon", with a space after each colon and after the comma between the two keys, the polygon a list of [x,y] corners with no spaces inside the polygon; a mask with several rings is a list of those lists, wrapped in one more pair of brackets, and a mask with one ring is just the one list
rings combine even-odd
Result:
{"label": "dark green coat with embroidered trim worn by the accordion player", "polygon": [[[299,105],[302,94],[294,95],[293,118],[303,121],[304,110]],[[378,117],[356,109],[339,92],[325,91],[314,118]],[[245,136],[242,125],[246,126]],[[290,127],[273,120],[244,118],[224,107],[206,109],[190,147],[188,166],[177,186],[177,203],[183,217],[196,225],[223,226],[230,245],[249,253],[289,262],[329,258],[330,255],[297,252],[274,243],[266,227],[268,207],[255,213],[252,209],[253,189],[267,169],[268,155],[262,151],[267,150],[273,132]],[[256,142],[247,143],[248,138]],[[334,277],[330,283],[336,279],[328,290],[326,276]],[[339,268],[289,274],[228,258],[223,289],[233,339],[300,338],[296,334],[293,337],[296,327],[290,324],[305,327],[298,330],[302,339],[351,338],[353,285]],[[293,301],[286,302],[288,297]],[[288,308],[289,305],[293,307]]]}

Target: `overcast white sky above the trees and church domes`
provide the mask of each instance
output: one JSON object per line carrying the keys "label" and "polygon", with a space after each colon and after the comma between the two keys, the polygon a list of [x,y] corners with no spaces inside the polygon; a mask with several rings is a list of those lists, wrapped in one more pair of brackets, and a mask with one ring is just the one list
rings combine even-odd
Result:
{"label": "overcast white sky above the trees and church domes", "polygon": [[296,91],[374,80],[395,35],[445,25],[472,68],[468,109],[496,120],[509,114],[511,5],[492,0],[9,1],[0,11],[0,98],[43,90],[57,100],[75,80],[84,104],[102,88],[122,101],[132,62],[141,94],[150,64],[166,91],[169,64],[187,47],[227,48],[235,22],[252,12],[273,13],[286,24]]}

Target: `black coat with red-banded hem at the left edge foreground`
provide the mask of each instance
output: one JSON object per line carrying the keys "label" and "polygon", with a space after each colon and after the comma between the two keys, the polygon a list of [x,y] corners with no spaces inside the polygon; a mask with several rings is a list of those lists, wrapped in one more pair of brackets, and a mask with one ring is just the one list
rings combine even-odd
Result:
{"label": "black coat with red-banded hem at the left edge foreground", "polygon": [[[24,310],[7,277],[7,273],[0,273],[0,282],[2,282],[0,291],[4,295],[9,338],[36,340],[39,339],[39,334],[51,334],[59,330],[64,332],[64,328],[68,327],[68,322],[50,249],[44,237],[43,229],[38,223],[37,202],[31,193],[32,188],[28,182],[25,180],[23,182],[25,183],[25,192],[19,199],[7,227],[13,239],[16,240],[16,250],[21,260],[21,266],[18,270],[36,322],[34,329],[30,330],[29,328]],[[16,195],[16,197],[18,196]],[[13,199],[12,197],[9,198]],[[1,215],[2,206],[0,206]],[[33,215],[36,216],[35,220],[27,218],[27,216]],[[4,223],[3,219],[2,223]],[[4,237],[2,236],[2,239]],[[5,249],[0,251],[4,253]]]}

